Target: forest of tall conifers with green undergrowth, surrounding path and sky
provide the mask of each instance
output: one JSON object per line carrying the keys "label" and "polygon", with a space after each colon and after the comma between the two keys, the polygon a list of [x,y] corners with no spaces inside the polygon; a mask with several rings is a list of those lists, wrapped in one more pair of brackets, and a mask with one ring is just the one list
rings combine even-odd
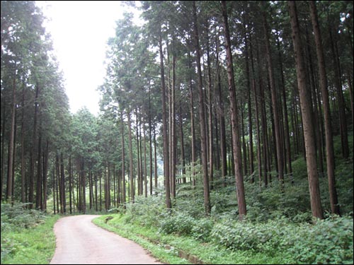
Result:
{"label": "forest of tall conifers with green undergrowth, surrounding path and sky", "polygon": [[35,1],[1,1],[1,263],[21,204],[353,264],[353,1],[126,4],[95,116]]}

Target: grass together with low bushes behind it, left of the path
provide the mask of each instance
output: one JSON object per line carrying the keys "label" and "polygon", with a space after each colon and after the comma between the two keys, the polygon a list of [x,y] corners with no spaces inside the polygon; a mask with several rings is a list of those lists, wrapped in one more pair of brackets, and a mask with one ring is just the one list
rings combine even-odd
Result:
{"label": "grass together with low bushes behind it, left of the path", "polygon": [[49,264],[55,252],[53,226],[59,215],[1,204],[1,264]]}

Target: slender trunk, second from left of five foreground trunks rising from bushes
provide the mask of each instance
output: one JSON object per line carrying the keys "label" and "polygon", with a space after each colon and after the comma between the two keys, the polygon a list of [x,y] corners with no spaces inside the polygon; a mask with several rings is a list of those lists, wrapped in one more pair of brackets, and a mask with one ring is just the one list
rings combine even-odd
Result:
{"label": "slender trunk, second from left of five foreground trunks rising from bushes", "polygon": [[204,93],[202,85],[202,68],[200,65],[200,46],[199,46],[199,34],[198,34],[198,20],[197,20],[197,7],[195,1],[193,1],[193,34],[195,37],[195,50],[197,53],[197,70],[198,70],[198,95],[199,95],[199,119],[200,119],[200,144],[202,147],[202,175],[203,175],[203,187],[204,187],[204,208],[205,214],[210,214],[210,195],[209,195],[209,179],[207,176],[207,134],[205,124],[205,111],[204,111]]}

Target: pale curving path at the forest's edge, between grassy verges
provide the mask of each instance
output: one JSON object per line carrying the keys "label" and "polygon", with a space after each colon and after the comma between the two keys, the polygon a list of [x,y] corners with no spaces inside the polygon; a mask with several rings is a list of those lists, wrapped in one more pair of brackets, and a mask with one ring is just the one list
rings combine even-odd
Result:
{"label": "pale curving path at the forest's edge, between grassy verges", "polygon": [[57,248],[50,264],[160,264],[141,246],[91,223],[98,216],[69,216],[55,223]]}

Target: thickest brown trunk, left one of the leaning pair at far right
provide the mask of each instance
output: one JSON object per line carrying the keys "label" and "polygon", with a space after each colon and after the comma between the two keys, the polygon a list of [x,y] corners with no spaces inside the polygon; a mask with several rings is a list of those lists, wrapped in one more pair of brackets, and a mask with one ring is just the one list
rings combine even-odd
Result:
{"label": "thickest brown trunk, left one of the leaning pair at far right", "polygon": [[295,1],[289,1],[290,22],[292,27],[292,41],[294,43],[295,59],[297,62],[297,86],[299,88],[300,105],[302,110],[305,150],[307,158],[307,175],[309,177],[309,193],[312,216],[323,219],[321,196],[319,192],[319,176],[317,175],[316,148],[314,128],[312,125],[312,102],[310,102],[309,88],[307,88],[306,67],[299,33],[299,22]]}

